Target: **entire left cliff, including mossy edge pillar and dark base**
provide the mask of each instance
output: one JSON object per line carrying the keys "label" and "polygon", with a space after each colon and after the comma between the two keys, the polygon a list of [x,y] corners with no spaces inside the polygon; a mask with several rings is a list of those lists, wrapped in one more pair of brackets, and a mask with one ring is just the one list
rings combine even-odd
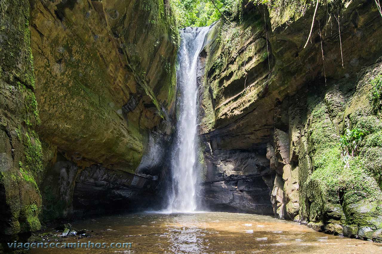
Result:
{"label": "entire left cliff, including mossy edge pillar and dark base", "polygon": [[0,11],[1,233],[152,205],[175,113],[168,1],[12,0]]}

